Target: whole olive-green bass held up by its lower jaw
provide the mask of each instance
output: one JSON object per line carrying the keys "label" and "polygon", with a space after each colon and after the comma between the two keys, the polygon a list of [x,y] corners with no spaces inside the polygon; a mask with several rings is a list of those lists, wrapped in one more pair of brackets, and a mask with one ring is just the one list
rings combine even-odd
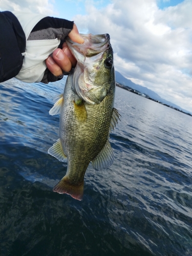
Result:
{"label": "whole olive-green bass held up by its lower jaw", "polygon": [[48,153],[67,162],[66,175],[53,191],[82,200],[84,175],[90,162],[95,170],[110,167],[114,154],[109,142],[119,112],[114,108],[115,71],[109,34],[81,34],[84,43],[66,42],[77,60],[63,94],[50,115],[60,113],[59,139]]}

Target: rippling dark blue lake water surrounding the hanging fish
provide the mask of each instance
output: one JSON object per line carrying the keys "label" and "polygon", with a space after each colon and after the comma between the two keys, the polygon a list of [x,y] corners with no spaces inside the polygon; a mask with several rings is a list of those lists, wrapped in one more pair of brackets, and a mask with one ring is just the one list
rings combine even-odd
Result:
{"label": "rippling dark blue lake water surrounding the hanging fish", "polygon": [[114,164],[90,165],[77,201],[52,191],[67,164],[47,153],[64,81],[0,84],[0,254],[192,255],[192,117],[116,88]]}

